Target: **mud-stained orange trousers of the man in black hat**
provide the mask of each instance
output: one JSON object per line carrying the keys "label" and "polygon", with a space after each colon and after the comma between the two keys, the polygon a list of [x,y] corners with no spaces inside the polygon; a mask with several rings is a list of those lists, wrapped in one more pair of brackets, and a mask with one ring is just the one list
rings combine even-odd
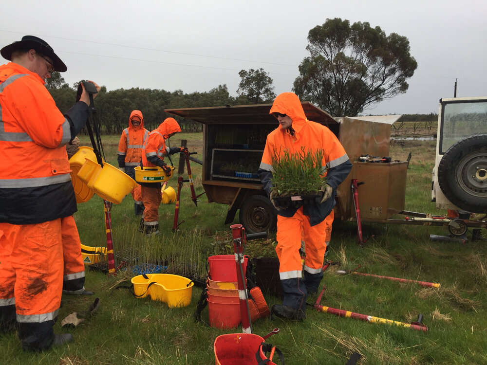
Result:
{"label": "mud-stained orange trousers of the man in black hat", "polygon": [[24,350],[54,341],[61,303],[61,219],[38,224],[0,223],[0,329],[17,327]]}

